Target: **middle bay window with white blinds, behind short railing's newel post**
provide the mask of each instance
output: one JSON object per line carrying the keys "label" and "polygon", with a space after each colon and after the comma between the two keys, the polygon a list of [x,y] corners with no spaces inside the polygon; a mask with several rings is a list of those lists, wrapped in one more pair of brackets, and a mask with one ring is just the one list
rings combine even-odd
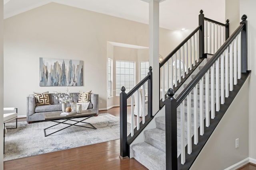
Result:
{"label": "middle bay window with white blinds, behind short railing's newel post", "polygon": [[121,87],[128,93],[134,87],[134,62],[116,61],[116,96],[120,96]]}

